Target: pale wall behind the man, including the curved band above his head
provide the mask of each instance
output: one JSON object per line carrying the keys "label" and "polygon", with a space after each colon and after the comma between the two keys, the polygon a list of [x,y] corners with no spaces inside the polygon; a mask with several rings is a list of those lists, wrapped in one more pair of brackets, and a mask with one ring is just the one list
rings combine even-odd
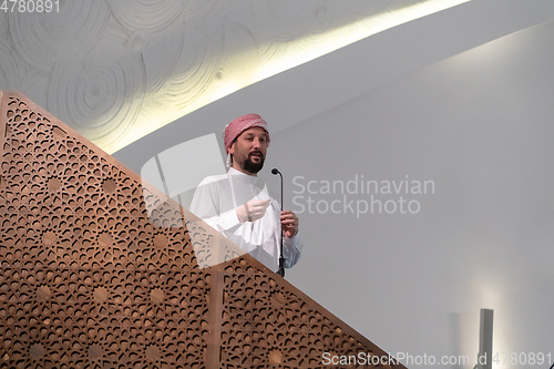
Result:
{"label": "pale wall behind the man, including the curved band above his head", "polygon": [[[242,90],[114,156],[140,172],[152,155],[219,134],[253,111],[276,131],[265,175],[281,170],[295,211],[295,176],[434,181],[434,194],[404,196],[421,205],[413,215],[300,214],[305,254],[287,278],[391,352],[474,359],[479,309],[492,308],[494,351],[546,353],[554,23],[531,25],[554,10],[526,4],[472,1],[402,25]],[[442,37],[435,43],[432,34]]]}

